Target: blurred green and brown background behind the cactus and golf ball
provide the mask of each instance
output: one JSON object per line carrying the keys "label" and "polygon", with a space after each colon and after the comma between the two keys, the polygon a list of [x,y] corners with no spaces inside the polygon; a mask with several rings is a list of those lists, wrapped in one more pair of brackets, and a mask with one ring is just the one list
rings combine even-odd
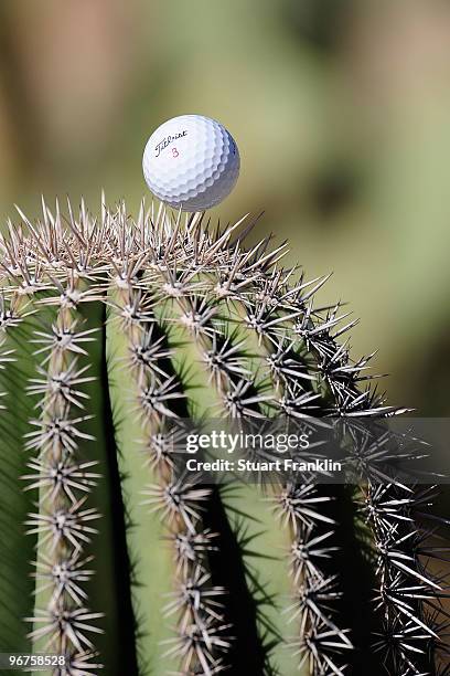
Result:
{"label": "blurred green and brown background behind the cactus and golf ball", "polygon": [[242,155],[224,221],[265,211],[289,263],[378,349],[393,403],[450,413],[450,6],[443,0],[2,0],[0,218],[105,188],[130,212],[141,154],[200,113]]}

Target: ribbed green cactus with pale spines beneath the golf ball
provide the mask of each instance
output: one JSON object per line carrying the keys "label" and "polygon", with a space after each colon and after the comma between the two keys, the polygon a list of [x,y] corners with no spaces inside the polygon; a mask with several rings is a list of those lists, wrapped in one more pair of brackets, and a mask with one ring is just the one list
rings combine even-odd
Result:
{"label": "ribbed green cactus with pale spines beneath the golf ball", "polygon": [[354,321],[313,306],[325,279],[246,249],[247,216],[20,216],[0,241],[1,651],[73,676],[443,674],[432,489],[174,469],[188,419],[399,412],[351,359]]}

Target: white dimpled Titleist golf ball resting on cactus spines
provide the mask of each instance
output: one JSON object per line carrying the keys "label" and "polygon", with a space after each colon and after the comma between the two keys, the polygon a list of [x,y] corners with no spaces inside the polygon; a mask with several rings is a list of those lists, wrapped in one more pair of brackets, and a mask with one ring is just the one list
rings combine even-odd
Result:
{"label": "white dimpled Titleist golf ball resting on cactus spines", "polygon": [[147,141],[143,176],[160,200],[182,211],[203,211],[222,202],[239,175],[237,146],[221,123],[180,115]]}

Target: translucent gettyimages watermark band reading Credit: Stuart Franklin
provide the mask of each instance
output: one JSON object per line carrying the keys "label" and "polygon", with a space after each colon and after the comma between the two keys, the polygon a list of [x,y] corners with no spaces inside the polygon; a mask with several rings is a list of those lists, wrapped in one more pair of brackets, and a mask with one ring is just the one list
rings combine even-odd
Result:
{"label": "translucent gettyimages watermark band reading Credit: Stuart Franklin", "polygon": [[175,475],[194,483],[450,484],[450,419],[304,416],[194,425],[159,435]]}

